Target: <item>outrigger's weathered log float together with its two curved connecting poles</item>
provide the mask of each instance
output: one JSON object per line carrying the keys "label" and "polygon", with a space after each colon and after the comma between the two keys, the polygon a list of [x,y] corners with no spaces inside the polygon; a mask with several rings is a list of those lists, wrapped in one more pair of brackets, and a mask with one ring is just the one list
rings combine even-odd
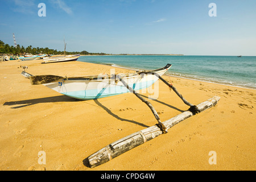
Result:
{"label": "outrigger's weathered log float together with its two curved connecting poles", "polygon": [[196,113],[200,113],[201,111],[204,111],[209,109],[210,107],[213,107],[220,100],[220,97],[214,96],[213,98],[210,98],[205,102],[201,102],[201,104],[199,105],[193,105],[189,103],[187,100],[185,100],[185,98],[183,98],[183,96],[179,92],[177,92],[177,89],[172,84],[169,84],[157,73],[141,72],[140,74],[145,74],[145,75],[154,74],[156,77],[162,80],[166,85],[168,85],[172,90],[174,90],[177,96],[179,96],[186,105],[190,106],[190,108],[187,111],[184,111],[183,113],[176,115],[171,119],[168,119],[167,121],[161,122],[158,113],[156,112],[154,107],[151,105],[151,103],[145,100],[139,93],[137,93],[125,81],[123,81],[121,76],[116,75],[115,77],[119,81],[121,81],[122,84],[126,86],[127,89],[129,89],[130,92],[134,93],[135,96],[137,96],[142,102],[144,102],[148,107],[150,107],[152,113],[154,114],[156,120],[158,121],[158,124],[148,127],[147,129],[138,131],[136,133],[133,133],[125,138],[119,139],[109,144],[108,146],[102,148],[101,150],[95,152],[94,154],[90,155],[88,157],[88,161],[89,161],[89,166],[91,168],[104,164],[109,160],[123,154],[124,152],[131,150],[134,147],[137,147],[155,137],[158,137],[161,134],[167,133],[168,129],[170,129],[172,126],[183,121],[184,119],[192,117]]}

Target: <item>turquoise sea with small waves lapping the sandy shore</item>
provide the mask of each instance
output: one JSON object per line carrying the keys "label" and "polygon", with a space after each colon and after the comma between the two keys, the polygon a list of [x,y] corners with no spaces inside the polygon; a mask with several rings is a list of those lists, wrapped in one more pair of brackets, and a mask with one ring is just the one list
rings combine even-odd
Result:
{"label": "turquoise sea with small waves lapping the sandy shore", "polygon": [[256,56],[80,56],[78,61],[150,70],[172,64],[168,75],[256,89]]}

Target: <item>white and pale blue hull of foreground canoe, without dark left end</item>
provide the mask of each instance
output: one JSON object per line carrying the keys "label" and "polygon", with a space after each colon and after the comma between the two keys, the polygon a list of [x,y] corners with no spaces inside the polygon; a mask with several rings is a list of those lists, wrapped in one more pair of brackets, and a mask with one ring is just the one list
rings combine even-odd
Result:
{"label": "white and pale blue hull of foreground canoe, without dark left end", "polygon": [[[162,76],[170,67],[156,70],[155,73]],[[154,84],[158,77],[154,74],[142,73],[123,77],[122,79],[134,90],[141,90]],[[72,80],[72,78],[68,78],[68,80],[60,80],[43,85],[65,96],[79,100],[93,100],[129,92],[121,81],[117,81],[114,78],[105,80]]]}

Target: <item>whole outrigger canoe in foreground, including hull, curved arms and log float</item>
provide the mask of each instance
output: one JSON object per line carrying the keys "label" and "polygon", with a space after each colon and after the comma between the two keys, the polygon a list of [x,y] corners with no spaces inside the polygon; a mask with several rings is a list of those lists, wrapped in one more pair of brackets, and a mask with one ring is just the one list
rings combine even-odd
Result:
{"label": "whole outrigger canoe in foreground, including hull, curved arms and log float", "polygon": [[[55,76],[55,75],[33,76],[27,72],[22,72],[22,75],[27,78],[30,78],[32,85],[43,84],[48,88],[51,88],[59,93],[65,94],[66,96],[79,98],[81,100],[97,99],[101,97],[113,96],[115,94],[131,92],[131,93],[134,93],[135,96],[137,96],[148,107],[150,107],[158,123],[154,126],[148,127],[147,129],[143,129],[125,138],[119,139],[109,144],[108,146],[102,148],[101,150],[97,151],[96,153],[90,155],[88,157],[89,166],[93,168],[93,167],[99,166],[100,164],[104,164],[108,162],[109,160],[123,154],[126,151],[131,150],[134,147],[137,147],[147,142],[148,140],[158,137],[161,134],[167,133],[172,126],[176,125],[181,121],[184,121],[184,119],[187,119],[197,113],[200,113],[201,111],[204,111],[209,109],[210,107],[213,107],[220,100],[220,97],[214,96],[213,98],[210,98],[205,102],[201,102],[201,104],[199,105],[193,105],[189,103],[187,100],[185,100],[185,98],[183,98],[183,96],[177,91],[177,89],[172,84],[169,84],[166,80],[164,80],[164,78],[162,78],[162,75],[168,69],[170,69],[170,67],[171,67],[171,64],[167,64],[166,67],[155,69],[148,72],[147,71],[137,72],[132,76],[113,75],[110,77],[102,77],[100,79],[98,79],[99,77],[97,76],[71,77],[71,78]],[[131,78],[133,78],[132,79],[133,82],[129,82],[129,79]],[[146,79],[146,78],[149,78],[149,79]],[[187,111],[184,111],[183,113],[176,115],[175,117],[168,119],[167,121],[164,121],[164,122],[160,121],[159,115],[154,109],[154,107],[152,106],[152,104],[146,99],[144,99],[139,93],[136,92],[136,90],[147,88],[158,79],[163,81],[164,84],[166,84],[170,89],[174,90],[177,96],[179,96],[181,100],[183,100],[184,104],[190,106]],[[114,80],[114,83],[112,82],[112,80]],[[144,85],[142,84],[143,82],[149,82],[149,84]],[[100,84],[100,83],[103,83],[106,86],[104,86],[104,88],[102,89],[97,89],[97,90],[93,89],[93,86],[96,87],[98,86],[96,84]],[[138,83],[141,83],[141,84],[138,84]],[[84,88],[80,86],[80,84],[86,85],[86,87]],[[89,86],[89,84],[93,84],[93,85]],[[137,84],[139,86],[137,86]],[[76,86],[76,88],[84,89],[84,90],[82,92],[80,92],[79,90],[76,90],[76,92],[61,91],[64,89],[67,90],[68,86],[70,86],[70,88],[74,88],[74,85]],[[113,86],[115,89],[109,89],[109,90],[112,90],[112,92],[105,92],[108,86]],[[120,89],[121,86],[126,90]],[[90,90],[93,90],[93,92],[96,92],[96,94],[92,94]]]}

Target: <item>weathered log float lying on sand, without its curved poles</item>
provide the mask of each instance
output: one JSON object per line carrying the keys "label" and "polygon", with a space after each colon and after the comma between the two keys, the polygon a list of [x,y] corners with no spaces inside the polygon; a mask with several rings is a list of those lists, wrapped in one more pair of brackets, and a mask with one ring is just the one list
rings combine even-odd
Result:
{"label": "weathered log float lying on sand, without its curved poles", "polygon": [[[200,112],[207,110],[210,107],[216,105],[219,100],[220,97],[214,96],[213,98],[210,98],[205,102],[201,102],[201,104],[197,105],[197,108]],[[166,126],[168,130],[177,123],[184,121],[184,119],[192,117],[194,114],[195,113],[192,113],[189,110],[184,111],[183,113],[176,115],[175,117],[168,119],[167,121],[164,121],[163,125]],[[104,164],[109,160],[117,157],[118,155],[121,155],[124,152],[129,151],[132,148],[137,147],[155,137],[158,137],[161,134],[163,134],[163,131],[158,126],[154,125],[144,130],[133,133],[125,138],[119,139],[97,151],[96,153],[90,155],[88,157],[89,166],[93,168]]]}

